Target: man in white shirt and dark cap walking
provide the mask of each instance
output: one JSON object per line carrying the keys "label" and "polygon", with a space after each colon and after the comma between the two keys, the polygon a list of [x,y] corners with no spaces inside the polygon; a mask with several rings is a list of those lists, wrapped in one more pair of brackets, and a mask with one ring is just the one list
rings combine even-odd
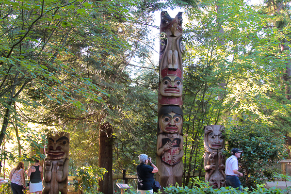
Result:
{"label": "man in white shirt and dark cap walking", "polygon": [[240,173],[239,170],[239,162],[238,158],[241,157],[242,150],[239,150],[237,148],[233,148],[231,150],[231,155],[226,160],[226,186],[231,186],[233,188],[239,188],[239,190],[242,192],[241,189],[241,182],[239,177],[242,177],[242,173]]}

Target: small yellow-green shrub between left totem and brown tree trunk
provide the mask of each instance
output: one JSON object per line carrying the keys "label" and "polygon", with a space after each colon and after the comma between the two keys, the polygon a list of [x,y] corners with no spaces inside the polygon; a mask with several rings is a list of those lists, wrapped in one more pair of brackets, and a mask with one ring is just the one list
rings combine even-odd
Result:
{"label": "small yellow-green shrub between left totem and brown tree trunk", "polygon": [[103,179],[103,175],[108,171],[105,168],[94,166],[83,166],[77,170],[77,177],[74,180],[79,180],[74,183],[75,190],[78,189],[84,194],[99,194],[97,191],[98,181]]}

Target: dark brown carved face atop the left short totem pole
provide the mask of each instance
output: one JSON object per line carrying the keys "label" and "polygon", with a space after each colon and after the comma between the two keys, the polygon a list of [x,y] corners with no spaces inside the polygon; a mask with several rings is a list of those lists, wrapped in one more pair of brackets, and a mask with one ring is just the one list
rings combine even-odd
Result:
{"label": "dark brown carved face atop the left short totem pole", "polygon": [[50,160],[58,160],[67,158],[69,155],[69,135],[65,133],[50,135],[48,138],[48,146],[46,147],[46,155]]}

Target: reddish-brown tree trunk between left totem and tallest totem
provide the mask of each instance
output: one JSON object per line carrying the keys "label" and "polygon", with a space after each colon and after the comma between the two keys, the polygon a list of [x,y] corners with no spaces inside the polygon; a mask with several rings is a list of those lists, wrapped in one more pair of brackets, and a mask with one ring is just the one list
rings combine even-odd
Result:
{"label": "reddish-brown tree trunk between left totem and tallest totem", "polygon": [[98,182],[99,192],[113,194],[112,166],[113,166],[113,129],[106,122],[99,130],[99,167],[105,168],[108,172],[104,174],[103,180]]}

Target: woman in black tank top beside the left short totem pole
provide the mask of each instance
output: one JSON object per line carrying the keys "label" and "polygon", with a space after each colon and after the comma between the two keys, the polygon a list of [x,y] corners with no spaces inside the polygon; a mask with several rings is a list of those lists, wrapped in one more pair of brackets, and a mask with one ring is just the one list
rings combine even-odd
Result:
{"label": "woman in black tank top beside the left short totem pole", "polygon": [[34,165],[28,170],[27,176],[30,177],[29,192],[39,194],[42,191],[42,179],[40,173],[42,167],[39,165],[39,160],[34,160]]}

